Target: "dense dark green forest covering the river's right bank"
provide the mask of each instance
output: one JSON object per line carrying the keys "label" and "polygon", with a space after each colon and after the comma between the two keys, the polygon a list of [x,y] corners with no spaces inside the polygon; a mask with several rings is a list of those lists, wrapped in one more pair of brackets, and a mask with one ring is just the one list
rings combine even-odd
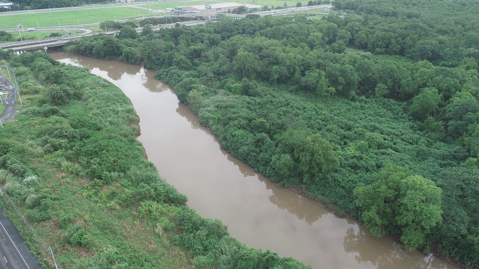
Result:
{"label": "dense dark green forest covering the river's right bank", "polygon": [[65,50],[156,69],[278,185],[479,268],[479,2],[334,5],[347,15],[125,24]]}

